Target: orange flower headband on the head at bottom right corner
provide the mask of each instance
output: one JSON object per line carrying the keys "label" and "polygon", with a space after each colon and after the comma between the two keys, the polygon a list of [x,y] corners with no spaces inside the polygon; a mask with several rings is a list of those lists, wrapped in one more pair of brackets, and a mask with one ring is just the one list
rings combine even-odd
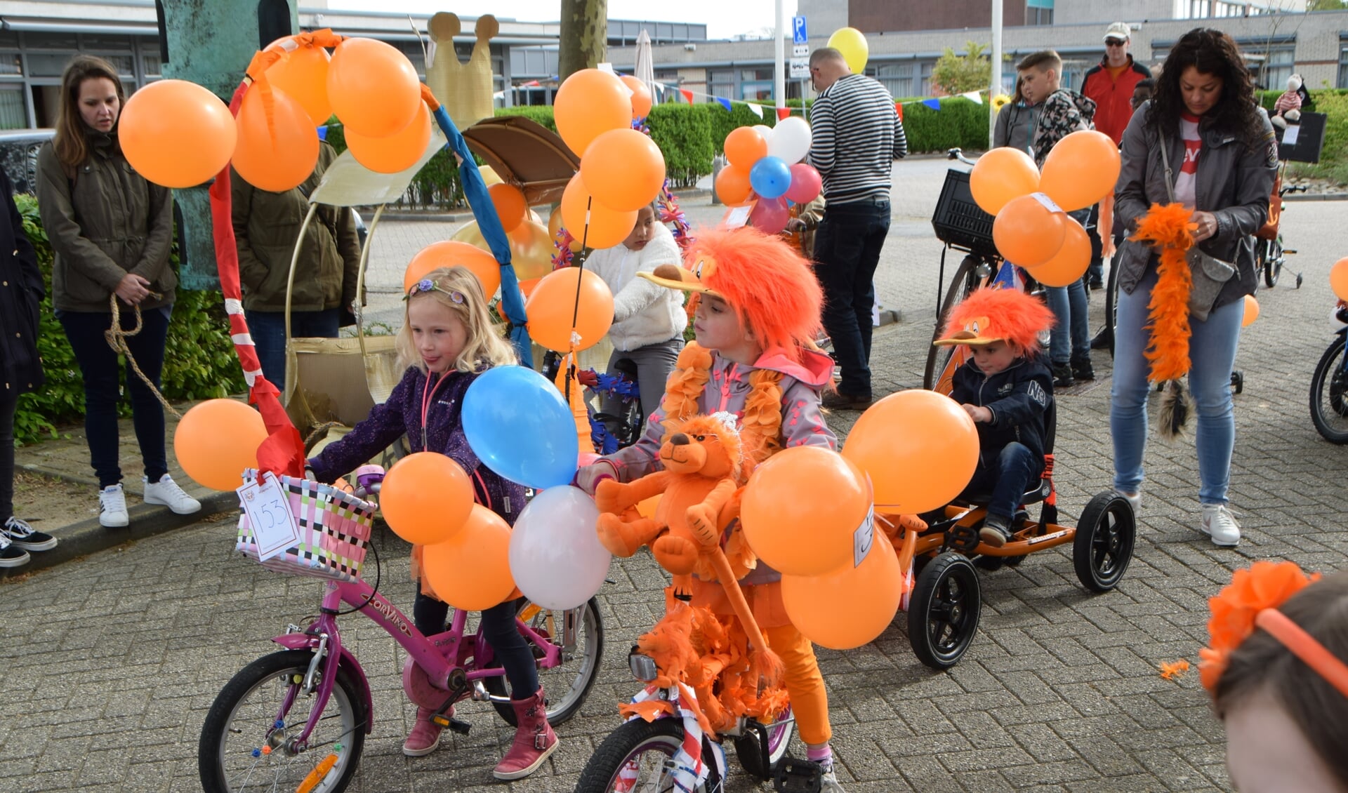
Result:
{"label": "orange flower headband on the head at bottom right corner", "polygon": [[1336,658],[1299,625],[1278,611],[1278,606],[1287,602],[1287,598],[1316,580],[1320,580],[1318,572],[1306,576],[1293,561],[1256,561],[1250,570],[1237,570],[1231,576],[1231,583],[1208,600],[1212,609],[1212,618],[1208,621],[1211,646],[1198,650],[1202,658],[1198,672],[1208,693],[1216,695],[1231,653],[1250,638],[1255,627],[1262,627],[1348,696],[1348,664]]}

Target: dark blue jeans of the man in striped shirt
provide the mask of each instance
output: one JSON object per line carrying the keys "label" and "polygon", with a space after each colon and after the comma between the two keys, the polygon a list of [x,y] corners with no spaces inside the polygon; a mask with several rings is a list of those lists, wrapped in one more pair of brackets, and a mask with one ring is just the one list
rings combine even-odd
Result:
{"label": "dark blue jeans of the man in striped shirt", "polygon": [[875,268],[890,233],[890,201],[830,203],[814,237],[814,276],[824,288],[824,330],[842,377],[838,390],[871,396]]}

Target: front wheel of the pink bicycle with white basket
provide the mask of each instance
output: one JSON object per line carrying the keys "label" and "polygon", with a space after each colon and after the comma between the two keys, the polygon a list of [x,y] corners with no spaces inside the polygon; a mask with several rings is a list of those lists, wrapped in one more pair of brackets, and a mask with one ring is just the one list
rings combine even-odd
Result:
{"label": "front wheel of the pink bicycle with white basket", "polygon": [[[295,790],[309,780],[317,780],[314,793],[346,789],[360,763],[369,715],[360,687],[344,669],[307,747],[295,751],[291,746],[315,699],[301,691],[313,657],[310,650],[263,656],[225,684],[206,714],[197,746],[197,770],[206,793]],[[336,759],[328,762],[329,757]]]}

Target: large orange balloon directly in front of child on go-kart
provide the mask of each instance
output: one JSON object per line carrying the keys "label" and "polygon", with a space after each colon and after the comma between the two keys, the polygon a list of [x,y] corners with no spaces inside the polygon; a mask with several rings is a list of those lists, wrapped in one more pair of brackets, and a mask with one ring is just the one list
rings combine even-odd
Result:
{"label": "large orange balloon directly in front of child on go-kart", "polygon": [[900,390],[861,413],[842,456],[871,475],[876,509],[915,514],[945,506],[969,483],[979,431],[950,397]]}

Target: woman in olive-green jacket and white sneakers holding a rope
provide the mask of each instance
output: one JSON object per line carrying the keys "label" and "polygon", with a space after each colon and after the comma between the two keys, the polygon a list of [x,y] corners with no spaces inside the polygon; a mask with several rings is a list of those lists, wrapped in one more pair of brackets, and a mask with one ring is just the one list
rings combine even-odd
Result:
{"label": "woman in olive-green jacket and white sneakers holding a rope", "polygon": [[[173,197],[136,174],[117,143],[121,81],[106,61],[75,55],[61,77],[57,135],[38,152],[38,207],[51,240],[51,303],[70,339],[85,384],[85,436],[98,477],[98,521],[128,522],[117,455],[117,353],[104,333],[112,327],[112,296],[121,330],[144,376],[159,388],[168,316],[178,277],[168,265]],[[146,464],[144,501],[179,514],[201,509],[168,475],[164,415],[155,393],[127,361],[132,423]]]}

